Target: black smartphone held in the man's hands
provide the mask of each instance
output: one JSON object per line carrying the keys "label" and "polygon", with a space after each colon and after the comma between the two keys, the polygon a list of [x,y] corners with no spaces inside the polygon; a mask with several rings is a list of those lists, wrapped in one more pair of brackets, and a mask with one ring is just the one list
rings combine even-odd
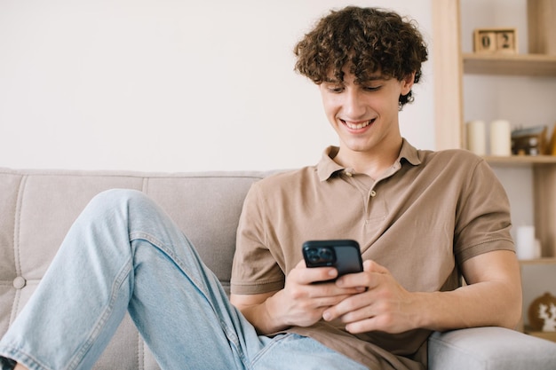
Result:
{"label": "black smartphone held in the man's hands", "polygon": [[303,258],[307,267],[336,267],[338,277],[363,271],[361,250],[355,240],[307,240]]}

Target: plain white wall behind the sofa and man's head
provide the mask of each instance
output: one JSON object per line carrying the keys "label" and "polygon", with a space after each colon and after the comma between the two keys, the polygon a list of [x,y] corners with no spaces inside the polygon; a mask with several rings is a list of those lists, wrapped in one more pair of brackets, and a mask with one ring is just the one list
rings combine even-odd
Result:
{"label": "plain white wall behind the sofa and man's head", "polygon": [[[313,164],[337,140],[291,50],[345,4],[410,15],[432,43],[430,0],[3,0],[0,166]],[[403,135],[422,148],[434,143],[431,64],[401,114]]]}

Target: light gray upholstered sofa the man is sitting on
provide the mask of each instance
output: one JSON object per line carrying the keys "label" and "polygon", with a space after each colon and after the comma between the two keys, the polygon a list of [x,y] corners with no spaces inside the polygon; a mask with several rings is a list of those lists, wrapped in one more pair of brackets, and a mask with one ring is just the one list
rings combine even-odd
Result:
{"label": "light gray upholstered sofa the man is sitting on", "polygon": [[[0,335],[35,291],[75,217],[110,188],[138,189],[157,201],[227,288],[243,198],[251,183],[269,173],[0,169]],[[95,368],[158,366],[126,318]],[[556,343],[499,327],[435,333],[429,368],[556,369]]]}

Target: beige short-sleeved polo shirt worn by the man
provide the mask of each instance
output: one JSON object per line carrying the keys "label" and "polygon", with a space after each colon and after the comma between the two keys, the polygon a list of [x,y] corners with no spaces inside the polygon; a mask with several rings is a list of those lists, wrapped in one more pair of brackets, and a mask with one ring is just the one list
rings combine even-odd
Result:
{"label": "beige short-sleeved polo shirt worn by the man", "polygon": [[[282,289],[306,240],[353,239],[363,260],[384,265],[409,291],[459,287],[459,265],[513,250],[510,208],[488,164],[463,150],[417,150],[403,141],[383,177],[345,169],[330,146],[317,166],[252,185],[237,233],[231,291]],[[313,337],[366,366],[425,368],[428,330],[351,335],[320,321],[288,332]],[[377,367],[373,367],[377,368]]]}

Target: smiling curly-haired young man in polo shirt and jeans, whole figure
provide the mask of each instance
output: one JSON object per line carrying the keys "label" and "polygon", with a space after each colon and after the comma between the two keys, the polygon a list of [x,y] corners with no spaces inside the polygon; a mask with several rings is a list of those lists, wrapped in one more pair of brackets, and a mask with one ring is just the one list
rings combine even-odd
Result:
{"label": "smiling curly-haired young man in polo shirt and jeans, whole figure", "polygon": [[[3,369],[90,368],[126,310],[165,369],[423,369],[432,330],[517,323],[504,189],[473,154],[401,138],[398,112],[426,59],[417,29],[348,7],[295,51],[339,147],[253,185],[233,305],[152,201],[102,193],[0,342]],[[323,239],[359,241],[364,271],[314,284],[338,274],[303,262],[302,243]]]}

